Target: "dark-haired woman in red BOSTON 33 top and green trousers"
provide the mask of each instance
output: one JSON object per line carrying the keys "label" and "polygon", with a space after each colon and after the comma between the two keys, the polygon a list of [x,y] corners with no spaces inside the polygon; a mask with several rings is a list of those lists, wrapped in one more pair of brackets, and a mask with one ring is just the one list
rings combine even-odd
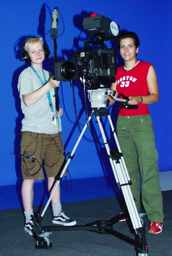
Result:
{"label": "dark-haired woman in red BOSTON 33 top and green trousers", "polygon": [[[159,181],[158,154],[148,104],[159,100],[158,83],[152,64],[136,59],[139,39],[134,32],[122,33],[118,38],[120,55],[124,65],[117,68],[116,82],[111,90],[116,97],[129,98],[128,104],[138,108],[121,108],[117,118],[117,138],[132,182],[131,192],[140,212],[141,199],[150,226],[150,234],[162,232],[163,207]],[[108,96],[109,105],[115,100]]]}

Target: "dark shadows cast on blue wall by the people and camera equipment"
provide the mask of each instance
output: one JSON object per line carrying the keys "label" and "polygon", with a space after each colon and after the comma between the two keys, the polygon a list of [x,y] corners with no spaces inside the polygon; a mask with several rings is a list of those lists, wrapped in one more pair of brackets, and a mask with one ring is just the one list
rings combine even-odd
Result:
{"label": "dark shadows cast on blue wall by the people and camera equipment", "polygon": [[[74,26],[79,28],[79,30],[80,30],[79,36],[75,37],[73,39],[73,47],[76,49],[77,52],[82,52],[83,51],[83,48],[79,47],[79,44],[80,44],[80,42],[83,42],[83,46],[84,46],[84,41],[86,40],[86,38],[88,38],[90,36],[90,34],[88,32],[86,32],[83,29],[83,26],[82,26],[83,19],[85,17],[89,17],[90,14],[91,14],[90,12],[88,13],[88,12],[83,11],[83,12],[81,12],[81,15],[75,15],[74,18],[73,18]],[[46,9],[45,9],[45,4],[43,4],[42,8],[41,8],[40,16],[39,16],[39,25],[38,25],[37,32],[44,39],[44,41],[45,41],[45,20],[46,20]],[[81,34],[82,35],[85,34],[86,38],[83,38],[83,37],[81,38],[80,37]],[[16,42],[15,47],[14,47],[14,52],[15,52],[16,59],[21,59],[20,47],[23,44],[23,42],[26,40],[26,38],[28,38],[28,37],[34,37],[34,36],[33,35],[22,36]],[[111,44],[112,44],[113,48],[117,49],[116,40],[112,41]],[[68,60],[71,59],[71,52],[72,52],[72,49],[71,50],[69,50],[69,49],[63,49],[62,50],[63,56],[67,57]],[[118,51],[116,51],[116,52],[118,52]],[[60,60],[61,59],[62,58],[60,58]],[[118,63],[120,63],[121,62],[121,58],[119,56],[119,53],[117,53],[117,59],[118,59]],[[19,92],[18,92],[18,89],[17,89],[17,82],[16,81],[18,81],[20,73],[25,68],[27,68],[28,66],[29,66],[29,63],[25,63],[24,65],[22,65],[21,67],[16,69],[14,74],[13,74],[13,77],[12,77],[13,96],[15,98],[15,107],[16,107],[16,110],[18,112],[18,117],[16,118],[15,141],[14,141],[15,168],[16,168],[16,175],[17,175],[16,191],[17,191],[17,195],[18,195],[18,199],[19,199],[21,207],[22,207],[22,200],[21,200],[20,189],[21,189],[21,184],[22,184],[22,175],[21,175],[21,158],[20,158],[20,140],[21,140],[20,131],[21,131],[21,121],[22,121],[24,116],[23,116],[21,108],[20,108]],[[52,71],[52,69],[54,68],[54,59],[53,58],[49,58],[49,60],[45,60],[43,68],[46,69],[46,70],[49,70],[53,74],[54,70]],[[83,92],[82,92],[82,89],[80,90],[81,83],[79,82],[79,80],[75,81],[74,86],[78,90],[77,100],[78,100],[78,95],[79,95],[79,98],[81,100],[81,108],[79,110],[79,114],[78,114],[78,116],[76,118],[76,121],[75,121],[75,123],[74,123],[74,125],[72,127],[72,130],[71,130],[68,138],[65,141],[64,149],[67,147],[67,145],[68,145],[68,143],[69,143],[69,141],[70,141],[74,131],[77,128],[79,129],[80,132],[82,131],[82,128],[83,128],[84,124],[80,125],[79,119],[83,115],[83,113],[86,112],[86,105],[87,105],[88,114],[91,111],[91,104],[90,104],[90,102],[88,100],[88,97],[86,97],[86,99],[85,99],[85,97],[83,95]],[[68,120],[70,121],[70,117],[68,116],[68,113],[65,110],[65,100],[64,100],[65,99],[65,94],[64,94],[63,88],[62,88],[62,91],[61,91],[61,95],[62,95],[62,99],[61,100],[64,103],[65,114],[66,114]],[[76,106],[75,100],[76,100],[75,96],[73,96],[74,106]],[[118,104],[116,104],[116,108],[113,108],[113,110],[112,110],[112,115],[111,116],[112,116],[113,124],[116,123],[117,112],[118,112]],[[107,122],[108,122],[108,120],[107,120],[107,117],[106,117],[105,118],[105,123],[107,124]],[[93,120],[91,120],[91,122],[90,122],[91,131],[93,133],[93,136],[96,138],[96,140],[99,141],[99,140],[101,140],[101,136],[97,135],[96,131],[99,130],[99,127],[97,125],[98,124],[94,124]],[[110,129],[110,125],[108,127]],[[87,142],[90,141],[86,137],[84,137],[84,138],[85,138],[85,140]],[[109,145],[112,146],[112,148],[114,148],[114,142],[110,142]],[[95,142],[95,148],[96,148],[95,154],[99,158],[99,161],[101,163],[101,168],[103,170],[104,177],[105,177],[105,180],[106,180],[106,187],[107,187],[107,189],[111,189],[112,188],[114,190],[114,194],[116,194],[116,186],[114,186],[114,179],[112,179],[112,177],[111,177],[112,169],[111,169],[110,162],[108,161],[108,155],[107,155],[106,148],[104,146],[102,146],[101,144],[97,143],[97,142]],[[83,152],[83,153],[85,153],[85,152]],[[93,156],[93,158],[94,158],[94,156]],[[72,182],[72,181],[68,181],[68,182]],[[37,185],[37,186],[39,186],[39,185]],[[43,188],[44,188],[44,192],[41,195],[40,205],[43,204],[44,199],[48,196],[46,180],[43,181]]]}

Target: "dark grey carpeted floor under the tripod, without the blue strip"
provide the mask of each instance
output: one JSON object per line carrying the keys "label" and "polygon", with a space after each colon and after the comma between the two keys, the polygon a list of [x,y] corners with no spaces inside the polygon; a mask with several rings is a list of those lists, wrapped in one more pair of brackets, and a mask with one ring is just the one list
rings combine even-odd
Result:
{"label": "dark grey carpeted floor under the tripod, without the blue strip", "polygon": [[[146,224],[146,240],[149,247],[148,256],[172,255],[171,210],[172,210],[172,172],[160,172],[164,207],[163,232],[158,235],[148,234],[149,222]],[[88,188],[89,189],[89,188]],[[112,196],[63,204],[66,215],[74,218],[77,225],[85,225],[96,220],[109,220],[118,214],[121,197]],[[38,206],[34,207],[34,211]],[[43,210],[40,209],[40,212]],[[52,226],[52,214],[48,207],[42,226]],[[114,229],[128,237],[134,238],[130,225],[117,222]],[[51,249],[35,249],[35,239],[24,230],[24,217],[20,208],[0,211],[0,256],[136,256],[134,246],[110,234],[82,231],[53,231],[49,236]],[[147,256],[146,255],[146,256]],[[145,255],[143,255],[145,256]]]}

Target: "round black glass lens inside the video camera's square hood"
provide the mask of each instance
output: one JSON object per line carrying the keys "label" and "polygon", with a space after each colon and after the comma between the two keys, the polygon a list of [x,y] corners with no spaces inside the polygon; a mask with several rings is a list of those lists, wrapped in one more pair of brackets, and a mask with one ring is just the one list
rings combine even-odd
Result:
{"label": "round black glass lens inside the video camera's square hood", "polygon": [[61,66],[61,74],[67,80],[73,79],[76,74],[75,64],[71,61],[65,61]]}

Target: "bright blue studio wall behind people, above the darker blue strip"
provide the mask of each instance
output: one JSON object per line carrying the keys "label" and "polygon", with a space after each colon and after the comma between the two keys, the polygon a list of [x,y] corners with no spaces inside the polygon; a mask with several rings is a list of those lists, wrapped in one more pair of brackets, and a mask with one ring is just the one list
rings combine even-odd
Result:
{"label": "bright blue studio wall behind people, above the darker blue strip", "polygon": [[[54,44],[50,38],[50,29],[52,12],[55,6],[62,12],[65,25],[64,34],[57,38],[58,60],[71,59],[71,52],[82,51],[84,40],[87,40],[90,36],[83,29],[83,18],[89,17],[93,12],[114,20],[120,25],[120,31],[129,30],[138,34],[140,39],[138,59],[154,64],[159,83],[160,100],[149,107],[153,118],[156,148],[159,152],[159,169],[161,172],[172,170],[171,1],[3,1],[0,8],[0,186],[20,185],[22,182],[21,159],[18,154],[20,154],[20,129],[23,116],[20,110],[17,84],[20,72],[27,65],[20,59],[20,45],[29,36],[43,37],[51,51],[50,60],[45,61],[44,68],[49,69],[54,74]],[[59,12],[58,19],[59,36],[63,30]],[[116,48],[115,40],[107,41],[105,44],[108,48]],[[117,54],[117,61],[119,65],[123,64],[119,54]],[[79,122],[85,124],[84,92],[79,81],[73,81],[73,89]],[[67,153],[72,151],[83,126],[78,124],[75,117],[72,88],[69,82],[61,83],[59,94],[60,107],[64,109],[64,115],[62,116],[63,140]],[[90,110],[89,102],[87,102],[87,107]],[[116,119],[117,108],[117,103],[113,108],[109,107],[113,122]],[[109,135],[108,123],[106,127]],[[94,124],[93,132],[97,134],[101,141],[100,131],[96,124]],[[94,142],[88,127],[75,152],[75,157],[69,165],[69,171],[72,179],[113,175],[104,147]],[[69,178],[68,176],[67,179]]]}

